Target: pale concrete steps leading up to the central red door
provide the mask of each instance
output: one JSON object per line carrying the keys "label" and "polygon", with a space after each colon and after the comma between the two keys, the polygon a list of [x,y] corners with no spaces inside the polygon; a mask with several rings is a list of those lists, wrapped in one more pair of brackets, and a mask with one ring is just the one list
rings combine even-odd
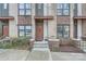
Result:
{"label": "pale concrete steps leading up to the central red door", "polygon": [[48,41],[35,41],[33,51],[47,51],[49,50]]}

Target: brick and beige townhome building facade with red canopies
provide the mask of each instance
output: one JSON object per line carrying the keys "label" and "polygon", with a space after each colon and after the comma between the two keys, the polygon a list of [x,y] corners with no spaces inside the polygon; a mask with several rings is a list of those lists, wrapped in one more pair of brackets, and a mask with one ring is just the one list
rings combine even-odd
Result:
{"label": "brick and beige townhome building facade with red canopies", "polygon": [[82,39],[86,36],[85,3],[0,3],[0,36]]}

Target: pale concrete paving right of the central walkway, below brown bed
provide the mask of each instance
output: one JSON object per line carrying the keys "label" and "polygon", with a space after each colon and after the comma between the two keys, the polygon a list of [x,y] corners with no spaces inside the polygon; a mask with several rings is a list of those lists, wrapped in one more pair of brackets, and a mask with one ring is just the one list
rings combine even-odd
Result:
{"label": "pale concrete paving right of the central walkway, below brown bed", "polygon": [[51,52],[52,61],[86,61],[86,53]]}

